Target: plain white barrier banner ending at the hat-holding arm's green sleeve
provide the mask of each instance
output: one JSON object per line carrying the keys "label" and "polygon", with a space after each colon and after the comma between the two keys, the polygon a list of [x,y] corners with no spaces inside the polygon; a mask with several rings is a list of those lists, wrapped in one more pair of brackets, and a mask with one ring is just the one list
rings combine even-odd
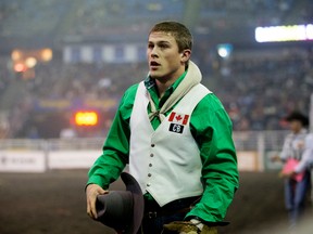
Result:
{"label": "plain white barrier banner ending at the hat-holding arm's green sleeve", "polygon": [[101,155],[101,151],[50,151],[48,154],[49,169],[89,169]]}

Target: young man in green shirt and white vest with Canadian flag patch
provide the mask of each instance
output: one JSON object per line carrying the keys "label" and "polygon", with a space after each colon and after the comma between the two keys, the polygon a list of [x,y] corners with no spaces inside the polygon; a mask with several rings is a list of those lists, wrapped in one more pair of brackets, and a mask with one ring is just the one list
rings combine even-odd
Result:
{"label": "young man in green shirt and white vest with Canadian flag patch", "polygon": [[231,122],[220,100],[200,84],[191,49],[192,36],[180,23],[151,29],[149,75],[125,92],[103,154],[89,171],[91,218],[97,195],[129,164],[145,196],[143,233],[159,234],[168,223],[166,230],[176,233],[190,226],[216,233],[212,226],[223,223],[238,187]]}

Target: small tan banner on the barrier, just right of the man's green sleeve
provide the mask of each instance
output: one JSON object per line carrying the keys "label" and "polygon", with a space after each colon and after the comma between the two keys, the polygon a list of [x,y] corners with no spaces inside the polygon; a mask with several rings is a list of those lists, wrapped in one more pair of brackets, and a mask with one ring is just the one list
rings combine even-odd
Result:
{"label": "small tan banner on the barrier, just right of the man's green sleeve", "polygon": [[262,171],[256,151],[238,151],[237,160],[239,171]]}

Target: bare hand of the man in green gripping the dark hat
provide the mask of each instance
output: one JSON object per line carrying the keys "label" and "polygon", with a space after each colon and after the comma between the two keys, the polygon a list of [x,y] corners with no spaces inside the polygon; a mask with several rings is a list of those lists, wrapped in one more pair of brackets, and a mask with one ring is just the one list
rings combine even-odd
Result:
{"label": "bare hand of the man in green gripping the dark hat", "polygon": [[87,213],[90,218],[97,219],[96,200],[98,195],[109,193],[104,191],[98,184],[89,184],[86,187],[86,199],[87,199]]}

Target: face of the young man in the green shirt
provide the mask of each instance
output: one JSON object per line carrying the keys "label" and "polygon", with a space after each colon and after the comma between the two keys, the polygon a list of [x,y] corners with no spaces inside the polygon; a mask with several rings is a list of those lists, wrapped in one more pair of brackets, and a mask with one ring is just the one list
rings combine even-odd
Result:
{"label": "face of the young man in the green shirt", "polygon": [[179,53],[177,42],[171,34],[154,31],[149,36],[147,56],[150,76],[166,82],[177,79],[185,72],[185,62],[190,56],[190,50]]}

